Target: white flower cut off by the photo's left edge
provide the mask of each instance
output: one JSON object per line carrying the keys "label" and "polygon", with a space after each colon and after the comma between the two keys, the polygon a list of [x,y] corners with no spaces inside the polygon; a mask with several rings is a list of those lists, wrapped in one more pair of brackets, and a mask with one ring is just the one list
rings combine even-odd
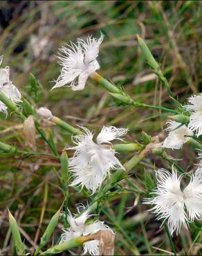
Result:
{"label": "white flower cut off by the photo's left edge", "polygon": [[[3,61],[3,57],[0,57],[0,65]],[[21,94],[14,84],[10,81],[10,71],[9,67],[0,68],[0,93],[5,94],[12,102],[19,103],[21,102]],[[7,113],[6,105],[0,101],[0,112]]]}

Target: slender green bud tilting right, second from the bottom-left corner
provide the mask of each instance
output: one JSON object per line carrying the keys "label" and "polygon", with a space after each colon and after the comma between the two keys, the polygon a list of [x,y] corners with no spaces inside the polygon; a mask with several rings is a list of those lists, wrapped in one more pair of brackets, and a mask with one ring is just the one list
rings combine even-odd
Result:
{"label": "slender green bud tilting right, second from the bottom-left corner", "polygon": [[57,226],[57,223],[59,220],[59,214],[60,214],[60,209],[50,219],[50,222],[44,232],[44,235],[41,238],[40,244],[37,247],[37,249],[35,250],[35,255],[38,255],[41,248],[48,243],[50,236],[53,234],[53,231],[55,230],[55,227]]}

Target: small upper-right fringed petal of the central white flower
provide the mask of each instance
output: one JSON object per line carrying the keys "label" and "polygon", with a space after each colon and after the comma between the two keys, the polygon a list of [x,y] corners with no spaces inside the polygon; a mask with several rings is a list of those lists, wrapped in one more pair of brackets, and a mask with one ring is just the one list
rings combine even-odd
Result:
{"label": "small upper-right fringed petal of the central white flower", "polygon": [[110,143],[111,140],[123,140],[122,136],[127,134],[127,129],[116,128],[114,126],[102,127],[97,137],[97,143]]}

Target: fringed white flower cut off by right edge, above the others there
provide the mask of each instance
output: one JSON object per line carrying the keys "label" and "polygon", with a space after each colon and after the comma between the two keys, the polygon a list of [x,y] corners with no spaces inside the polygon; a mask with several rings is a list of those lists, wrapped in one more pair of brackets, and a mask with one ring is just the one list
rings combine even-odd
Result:
{"label": "fringed white flower cut off by right edge, above the others there", "polygon": [[190,105],[185,106],[185,108],[192,111],[188,127],[192,131],[196,131],[196,136],[199,137],[202,134],[202,93],[197,96],[192,95],[188,102]]}

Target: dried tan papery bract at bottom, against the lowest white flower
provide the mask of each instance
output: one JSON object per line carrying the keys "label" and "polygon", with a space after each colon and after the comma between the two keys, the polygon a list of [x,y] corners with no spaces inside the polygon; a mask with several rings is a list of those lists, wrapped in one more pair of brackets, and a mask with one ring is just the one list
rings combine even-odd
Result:
{"label": "dried tan papery bract at bottom, against the lowest white flower", "polygon": [[99,241],[99,255],[114,255],[116,235],[111,230],[100,230],[89,237]]}

